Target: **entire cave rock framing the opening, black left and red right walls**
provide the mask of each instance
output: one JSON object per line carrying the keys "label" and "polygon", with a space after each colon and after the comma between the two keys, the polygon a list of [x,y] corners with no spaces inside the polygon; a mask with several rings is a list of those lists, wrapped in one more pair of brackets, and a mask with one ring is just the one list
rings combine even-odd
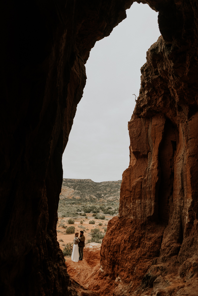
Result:
{"label": "entire cave rock framing the opening, black left and red right walls", "polygon": [[141,68],[119,216],[88,290],[56,237],[62,154],[89,52],[133,1],[2,5],[2,295],[197,295],[197,1],[137,2],[159,12],[162,35]]}

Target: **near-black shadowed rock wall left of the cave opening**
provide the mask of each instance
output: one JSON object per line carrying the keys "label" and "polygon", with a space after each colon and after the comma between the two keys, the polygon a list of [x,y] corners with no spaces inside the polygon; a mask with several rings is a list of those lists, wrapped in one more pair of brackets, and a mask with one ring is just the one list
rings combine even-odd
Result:
{"label": "near-black shadowed rock wall left of the cave opening", "polygon": [[3,1],[0,291],[67,295],[56,239],[62,154],[84,63],[132,1]]}

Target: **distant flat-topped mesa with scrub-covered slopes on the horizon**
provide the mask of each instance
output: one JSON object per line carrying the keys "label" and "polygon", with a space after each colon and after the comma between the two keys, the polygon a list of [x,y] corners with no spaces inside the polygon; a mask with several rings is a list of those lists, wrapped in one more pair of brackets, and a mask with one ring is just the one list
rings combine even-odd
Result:
{"label": "distant flat-topped mesa with scrub-covered slopes on the horizon", "polygon": [[60,199],[119,202],[121,183],[122,180],[98,183],[91,179],[63,179]]}

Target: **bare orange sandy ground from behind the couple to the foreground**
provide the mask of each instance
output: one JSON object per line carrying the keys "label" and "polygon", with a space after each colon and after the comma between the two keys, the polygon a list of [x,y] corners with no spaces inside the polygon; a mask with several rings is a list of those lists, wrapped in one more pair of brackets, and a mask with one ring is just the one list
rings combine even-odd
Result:
{"label": "bare orange sandy ground from behind the couple to the foreground", "polygon": [[[68,224],[68,218],[58,218],[57,223],[57,239],[60,244],[60,249],[63,250],[65,245],[69,242],[73,243],[74,234],[66,234],[66,229],[69,226],[75,227],[75,232],[80,232],[83,229],[85,236],[84,258],[82,261],[73,262],[71,256],[65,256],[65,263],[67,271],[70,276],[71,284],[75,287],[78,296],[121,296],[121,295],[141,295],[141,296],[197,296],[198,295],[198,278],[194,274],[193,265],[191,268],[191,274],[188,279],[181,278],[176,270],[172,270],[171,274],[157,276],[153,282],[152,287],[144,288],[143,285],[137,289],[130,290],[130,284],[125,284],[124,279],[117,276],[112,279],[109,274],[104,274],[102,266],[100,265],[100,249],[101,244],[91,242],[87,243],[88,239],[91,239],[91,229],[100,229],[105,234],[105,228],[108,225],[108,221],[112,219],[112,216],[106,216],[108,220],[95,220],[95,224],[89,224],[90,220],[94,217],[88,216],[85,219],[83,216],[73,218],[74,224]],[[114,219],[113,219],[114,220]],[[113,221],[111,220],[111,221]],[[83,221],[83,224],[80,224]],[[99,226],[99,223],[102,225]],[[65,224],[67,227],[60,226]],[[85,228],[85,229],[84,229]],[[153,270],[159,269],[158,265],[152,266]],[[152,271],[151,271],[152,274]],[[195,275],[195,276],[194,276]],[[126,269],[127,277],[127,269]],[[73,295],[71,293],[71,295]]]}

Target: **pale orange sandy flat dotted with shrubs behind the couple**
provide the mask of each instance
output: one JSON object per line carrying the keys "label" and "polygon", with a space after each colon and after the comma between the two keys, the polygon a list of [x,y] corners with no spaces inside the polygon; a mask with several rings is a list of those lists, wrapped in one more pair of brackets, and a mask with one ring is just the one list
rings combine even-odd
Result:
{"label": "pale orange sandy flat dotted with shrubs behind the couple", "polygon": [[[64,249],[64,244],[67,244],[68,242],[73,242],[73,239],[74,239],[74,234],[66,234],[65,231],[66,229],[63,228],[63,227],[59,227],[59,223],[64,223],[67,227],[69,226],[74,226],[75,227],[75,232],[79,232],[79,236],[80,236],[80,231],[83,230],[84,231],[84,236],[85,236],[85,244],[88,242],[88,239],[91,239],[91,237],[89,236],[89,233],[91,231],[91,229],[94,229],[94,228],[99,228],[100,231],[103,231],[104,232],[104,229],[105,227],[107,227],[107,224],[108,224],[108,221],[110,219],[112,219],[113,217],[112,216],[107,216],[106,219],[107,220],[97,220],[97,219],[94,219],[94,217],[89,217],[88,216],[88,219],[85,219],[84,216],[80,216],[80,217],[77,217],[77,218],[72,218],[75,220],[75,223],[74,224],[68,224],[68,219],[70,219],[71,217],[67,217],[67,218],[58,218],[58,224],[57,224],[57,230],[60,230],[61,232],[58,232],[57,231],[57,240],[59,242],[59,245],[60,245],[60,249],[63,250]],[[83,224],[80,224],[80,221],[83,221]],[[95,221],[95,224],[89,224],[89,221],[90,220],[94,220]],[[65,222],[63,222],[65,221]],[[99,226],[98,224],[99,223],[102,223],[103,225],[102,226]],[[84,226],[85,227],[85,230],[84,229],[81,229],[79,228],[79,226]],[[86,230],[88,229],[88,230]],[[59,240],[62,239],[63,242],[60,242]]]}

